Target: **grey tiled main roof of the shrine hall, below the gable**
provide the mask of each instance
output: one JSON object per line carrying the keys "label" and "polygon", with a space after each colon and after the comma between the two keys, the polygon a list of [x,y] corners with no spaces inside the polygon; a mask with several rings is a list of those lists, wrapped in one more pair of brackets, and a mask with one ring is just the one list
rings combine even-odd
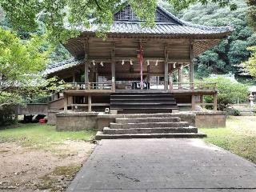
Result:
{"label": "grey tiled main roof of the shrine hall, below the gable", "polygon": [[[194,25],[190,22],[184,22],[181,19],[175,17],[173,14],[165,10],[162,6],[157,8],[158,14],[162,14],[167,20],[158,21],[153,28],[143,27],[142,21],[138,19],[116,19],[110,30],[109,34],[153,34],[153,35],[195,35],[195,34],[227,34],[232,31],[232,27],[214,27],[214,26],[200,26]],[[117,13],[118,14],[118,13]],[[132,17],[134,18],[134,16]],[[91,24],[90,28],[79,27],[84,33],[94,33],[99,29],[98,24]]]}

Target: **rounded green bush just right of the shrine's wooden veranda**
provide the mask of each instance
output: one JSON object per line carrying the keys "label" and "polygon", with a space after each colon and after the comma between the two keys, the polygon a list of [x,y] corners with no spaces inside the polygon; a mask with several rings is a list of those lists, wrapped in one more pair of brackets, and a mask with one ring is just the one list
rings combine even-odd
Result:
{"label": "rounded green bush just right of the shrine's wooden veranda", "polygon": [[[219,76],[218,78],[204,78],[202,82],[217,82],[218,86],[218,110],[224,110],[229,104],[245,102],[248,98],[248,87],[242,83]],[[206,103],[213,103],[212,96],[205,97]]]}

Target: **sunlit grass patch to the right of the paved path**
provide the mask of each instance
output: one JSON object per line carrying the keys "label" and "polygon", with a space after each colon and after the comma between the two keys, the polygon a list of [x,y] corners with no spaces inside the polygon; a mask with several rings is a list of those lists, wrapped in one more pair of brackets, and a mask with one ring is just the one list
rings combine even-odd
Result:
{"label": "sunlit grass patch to the right of the paved path", "polygon": [[200,130],[207,134],[206,142],[256,163],[256,117],[230,117],[226,128]]}

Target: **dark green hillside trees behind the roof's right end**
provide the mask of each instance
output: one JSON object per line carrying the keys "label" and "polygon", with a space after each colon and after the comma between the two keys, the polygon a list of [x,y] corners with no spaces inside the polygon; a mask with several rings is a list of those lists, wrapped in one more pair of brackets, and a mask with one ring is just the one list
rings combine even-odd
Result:
{"label": "dark green hillside trees behind the roof's right end", "polygon": [[230,38],[223,40],[207,50],[198,58],[194,59],[197,78],[207,77],[210,74],[226,74],[237,72],[236,65],[250,57],[248,46],[256,45],[256,35],[246,22],[246,11],[248,7],[243,1],[233,1],[238,5],[237,10],[230,11],[229,8],[219,8],[216,4],[190,6],[184,10],[180,17],[188,22],[198,23],[206,26],[234,27]]}

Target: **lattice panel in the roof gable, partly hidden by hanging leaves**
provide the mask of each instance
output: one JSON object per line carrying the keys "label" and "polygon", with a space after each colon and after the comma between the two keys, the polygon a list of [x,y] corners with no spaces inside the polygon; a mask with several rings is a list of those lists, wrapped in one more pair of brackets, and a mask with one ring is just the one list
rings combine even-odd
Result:
{"label": "lattice panel in the roof gable, partly hidden by hanging leaves", "polygon": [[[160,12],[155,12],[155,21],[156,22],[166,22],[170,19],[167,18],[164,14]],[[129,6],[126,6],[123,10],[118,11],[118,13],[114,14],[114,20],[116,21],[139,21],[139,18],[135,14],[134,10]]]}

